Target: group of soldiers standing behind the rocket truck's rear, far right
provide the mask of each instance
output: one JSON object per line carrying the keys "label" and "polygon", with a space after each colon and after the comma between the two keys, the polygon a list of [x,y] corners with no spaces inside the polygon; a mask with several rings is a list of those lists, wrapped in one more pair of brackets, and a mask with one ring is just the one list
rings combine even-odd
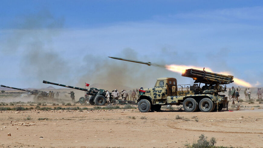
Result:
{"label": "group of soldiers standing behind the rocket truck's rear, far right", "polygon": [[[238,103],[239,103],[239,96],[240,96],[240,90],[241,88],[238,87],[235,89],[235,87],[232,86],[232,90],[229,88],[229,91],[228,91],[228,97],[230,100],[232,100],[232,104],[235,104],[234,100],[237,100]],[[261,92],[261,94],[260,94]],[[251,89],[250,88],[245,88],[244,90],[244,94],[245,94],[245,98],[246,100],[250,100],[250,95],[251,95]],[[258,88],[258,98],[262,96],[262,91],[261,91],[261,88]]]}

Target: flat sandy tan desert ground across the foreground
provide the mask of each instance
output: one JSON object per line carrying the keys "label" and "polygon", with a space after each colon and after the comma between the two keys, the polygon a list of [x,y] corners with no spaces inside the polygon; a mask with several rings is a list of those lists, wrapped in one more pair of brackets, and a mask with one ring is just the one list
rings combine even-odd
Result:
{"label": "flat sandy tan desert ground across the foreground", "polygon": [[[0,102],[3,100],[0,98]],[[263,104],[257,101],[240,102],[239,110],[237,104],[229,102],[232,112],[223,109],[210,113],[187,113],[177,106],[141,113],[136,108],[107,110],[80,104],[45,104],[2,104],[0,107],[33,109],[0,111],[0,147],[185,147],[201,134],[215,137],[216,146],[263,147]],[[37,106],[51,109],[40,110]]]}

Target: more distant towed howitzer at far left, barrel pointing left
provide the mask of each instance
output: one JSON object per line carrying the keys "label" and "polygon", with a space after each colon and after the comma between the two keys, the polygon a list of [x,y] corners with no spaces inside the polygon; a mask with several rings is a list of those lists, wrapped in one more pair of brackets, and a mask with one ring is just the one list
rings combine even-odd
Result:
{"label": "more distant towed howitzer at far left, barrel pointing left", "polygon": [[40,91],[40,90],[25,90],[25,89],[21,89],[21,88],[15,88],[15,87],[9,87],[9,86],[5,86],[5,85],[1,85],[1,87],[7,87],[7,88],[12,88],[12,89],[16,89],[16,90],[22,90],[22,91],[27,91],[30,92],[31,95],[34,95],[34,101],[38,101],[41,102],[44,100],[44,97],[48,97],[47,92],[45,91]]}

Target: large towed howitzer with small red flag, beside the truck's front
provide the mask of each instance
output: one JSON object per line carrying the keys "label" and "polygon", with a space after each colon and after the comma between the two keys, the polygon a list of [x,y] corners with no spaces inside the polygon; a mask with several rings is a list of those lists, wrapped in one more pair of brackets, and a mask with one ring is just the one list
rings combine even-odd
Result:
{"label": "large towed howitzer with small red flag, beside the truck's front", "polygon": [[[85,89],[85,88],[63,85],[63,84],[58,84],[58,83],[53,83],[53,82],[48,82],[48,81],[43,81],[43,83],[68,87],[68,88],[72,88],[72,89],[76,89],[76,90],[86,91],[85,97],[80,97],[80,99],[78,101],[78,102],[80,102],[80,104],[85,104],[86,102],[89,102],[90,105],[102,106],[102,105],[105,105],[107,103],[107,100],[105,98],[106,92],[103,89],[97,89],[94,87],[91,87],[90,89]],[[91,97],[88,97],[88,96],[91,96]],[[112,97],[110,97],[110,100],[113,102],[113,104],[136,104],[135,101],[114,100],[114,99],[112,99]]]}

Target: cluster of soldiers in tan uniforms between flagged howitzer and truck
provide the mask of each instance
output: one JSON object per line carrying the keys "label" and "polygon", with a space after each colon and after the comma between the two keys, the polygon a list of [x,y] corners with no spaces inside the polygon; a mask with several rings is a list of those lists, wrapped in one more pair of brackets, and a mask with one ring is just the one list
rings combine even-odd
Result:
{"label": "cluster of soldiers in tan uniforms between flagged howitzer and truck", "polygon": [[[111,103],[115,103],[115,100],[119,100],[119,97],[122,97],[122,101],[126,101],[127,97],[128,97],[128,93],[126,92],[125,89],[122,90],[122,92],[119,92],[117,89],[112,90],[112,94],[109,93],[108,90],[105,90],[106,95],[105,97],[107,98],[107,102],[109,105],[111,105]],[[110,97],[112,97],[112,102],[110,101]],[[133,90],[132,92],[132,99],[134,100],[136,98],[136,92],[135,90]]]}

